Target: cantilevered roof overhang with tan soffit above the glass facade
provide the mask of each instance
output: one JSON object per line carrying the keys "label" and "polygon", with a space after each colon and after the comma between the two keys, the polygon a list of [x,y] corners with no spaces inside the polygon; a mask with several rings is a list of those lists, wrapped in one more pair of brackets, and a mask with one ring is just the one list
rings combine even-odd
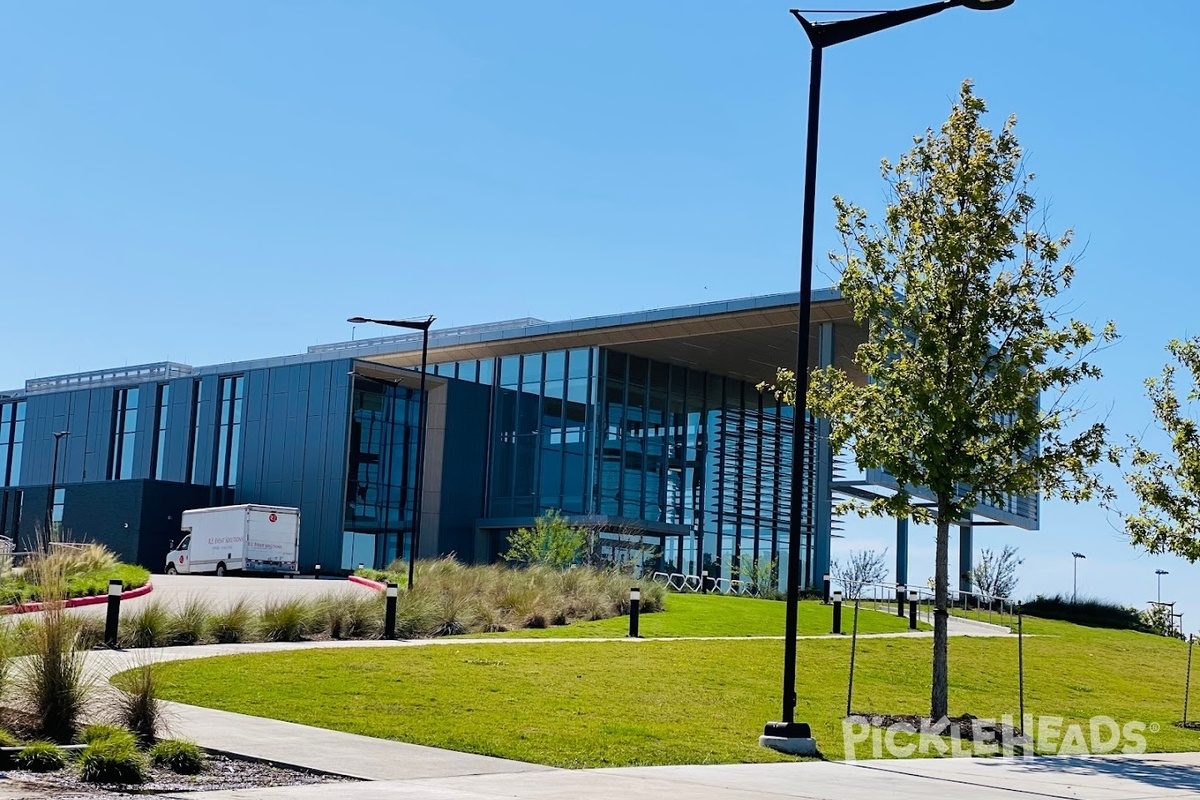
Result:
{"label": "cantilevered roof overhang with tan soffit above the glass facade", "polygon": [[[430,362],[583,347],[605,347],[656,361],[690,367],[750,383],[773,380],[779,367],[796,363],[799,295],[785,293],[661,308],[658,311],[592,317],[563,323],[517,320],[511,326],[484,330],[433,330]],[[817,363],[817,331],[834,327],[834,360],[857,378],[852,356],[863,341],[850,305],[834,289],[812,296],[809,363]],[[392,367],[415,367],[421,359],[421,335],[389,336],[310,348],[310,353],[344,350],[360,361]]]}

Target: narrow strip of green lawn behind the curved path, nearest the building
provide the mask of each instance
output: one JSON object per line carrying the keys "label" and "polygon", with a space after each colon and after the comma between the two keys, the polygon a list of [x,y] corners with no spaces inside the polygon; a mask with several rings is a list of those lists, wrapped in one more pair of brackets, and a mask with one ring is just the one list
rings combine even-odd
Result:
{"label": "narrow strip of green lawn behind the curved path, nearest the building", "polygon": [[[666,610],[642,614],[640,633],[644,638],[696,636],[782,636],[785,604],[776,600],[725,597],[721,595],[670,594]],[[842,631],[850,633],[854,610],[842,609]],[[924,622],[922,630],[929,630]],[[797,630],[800,636],[820,636],[833,630],[833,607],[815,601],[799,604]],[[908,630],[908,620],[895,614],[863,609],[858,616],[860,633],[889,633]],[[629,634],[629,616],[613,616],[594,622],[575,622],[547,628],[521,628],[494,633],[509,637],[598,637],[620,638]],[[475,634],[478,636],[478,634]]]}

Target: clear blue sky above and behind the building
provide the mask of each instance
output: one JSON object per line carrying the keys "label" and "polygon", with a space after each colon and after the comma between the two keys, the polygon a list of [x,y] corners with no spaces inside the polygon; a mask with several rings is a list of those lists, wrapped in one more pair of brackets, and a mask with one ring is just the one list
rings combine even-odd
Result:
{"label": "clear blue sky above and behind the building", "polygon": [[[832,4],[844,5],[844,4]],[[828,6],[826,6],[828,7]],[[850,7],[887,7],[850,4]],[[1018,113],[1051,223],[1086,243],[1073,301],[1122,343],[1096,414],[1140,431],[1141,380],[1196,332],[1187,236],[1200,5],[1019,0],[826,58],[828,198],[976,79]],[[808,44],[786,4],[8,4],[0,26],[0,387],[349,338],[350,314],[560,319],[797,283]],[[824,263],[818,284],[833,283]],[[839,548],[887,537],[851,522]],[[1198,569],[1046,504],[1022,593],[1164,595]],[[932,572],[917,529],[913,578]],[[881,540],[882,543],[882,540]]]}

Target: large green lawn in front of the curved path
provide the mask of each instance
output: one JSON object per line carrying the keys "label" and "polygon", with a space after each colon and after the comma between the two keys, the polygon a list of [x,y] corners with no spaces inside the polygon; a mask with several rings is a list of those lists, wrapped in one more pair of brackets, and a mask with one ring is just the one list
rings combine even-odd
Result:
{"label": "large green lawn in front of the curved path", "polygon": [[[1200,734],[1170,724],[1182,711],[1183,643],[1043,620],[1026,620],[1026,631],[1036,634],[1025,642],[1028,714],[1085,726],[1099,714],[1140,720],[1162,727],[1147,732],[1150,750],[1200,750]],[[930,648],[929,639],[859,640],[854,710],[928,711]],[[812,724],[828,758],[844,757],[848,655],[845,639],[799,644],[797,718]],[[583,768],[779,760],[756,739],[779,717],[781,658],[782,643],[766,639],[530,642],[226,656],[156,669],[172,700]],[[1016,708],[1015,638],[953,638],[952,714],[1015,716]]]}

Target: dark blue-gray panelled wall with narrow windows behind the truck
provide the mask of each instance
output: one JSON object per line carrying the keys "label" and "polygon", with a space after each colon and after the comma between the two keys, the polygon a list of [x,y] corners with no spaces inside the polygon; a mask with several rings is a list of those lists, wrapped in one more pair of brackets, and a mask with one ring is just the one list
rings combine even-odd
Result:
{"label": "dark blue-gray panelled wall with narrow windows behind the truck", "polygon": [[[163,482],[149,481],[149,485],[187,482],[192,397],[198,392],[193,486],[174,493],[156,488],[143,494],[142,489],[145,479],[152,477],[158,383],[138,386],[132,480],[124,481],[107,480],[113,398],[124,386],[29,396],[20,481],[25,489],[22,537],[32,537],[35,527],[44,522],[54,433],[70,431],[60,445],[56,483],[67,487],[62,523],[76,539],[104,541],[122,557],[134,557],[143,522],[148,525],[154,522],[156,541],[178,539],[176,500],[173,498],[186,498],[188,507],[262,503],[300,509],[301,570],[311,570],[314,564],[328,570],[340,564],[352,365],[352,360],[340,359],[241,372],[230,368],[220,374],[214,372],[169,381]],[[222,487],[210,486],[220,426],[220,379],[238,374],[245,375],[246,381],[241,437],[239,451],[234,453],[238,479],[232,492],[222,493]],[[172,530],[160,536],[157,531],[164,516],[174,516],[174,521],[168,525]],[[126,522],[128,529],[124,528]],[[166,555],[166,551],[162,554]],[[152,558],[143,564],[161,569],[157,547]]]}

